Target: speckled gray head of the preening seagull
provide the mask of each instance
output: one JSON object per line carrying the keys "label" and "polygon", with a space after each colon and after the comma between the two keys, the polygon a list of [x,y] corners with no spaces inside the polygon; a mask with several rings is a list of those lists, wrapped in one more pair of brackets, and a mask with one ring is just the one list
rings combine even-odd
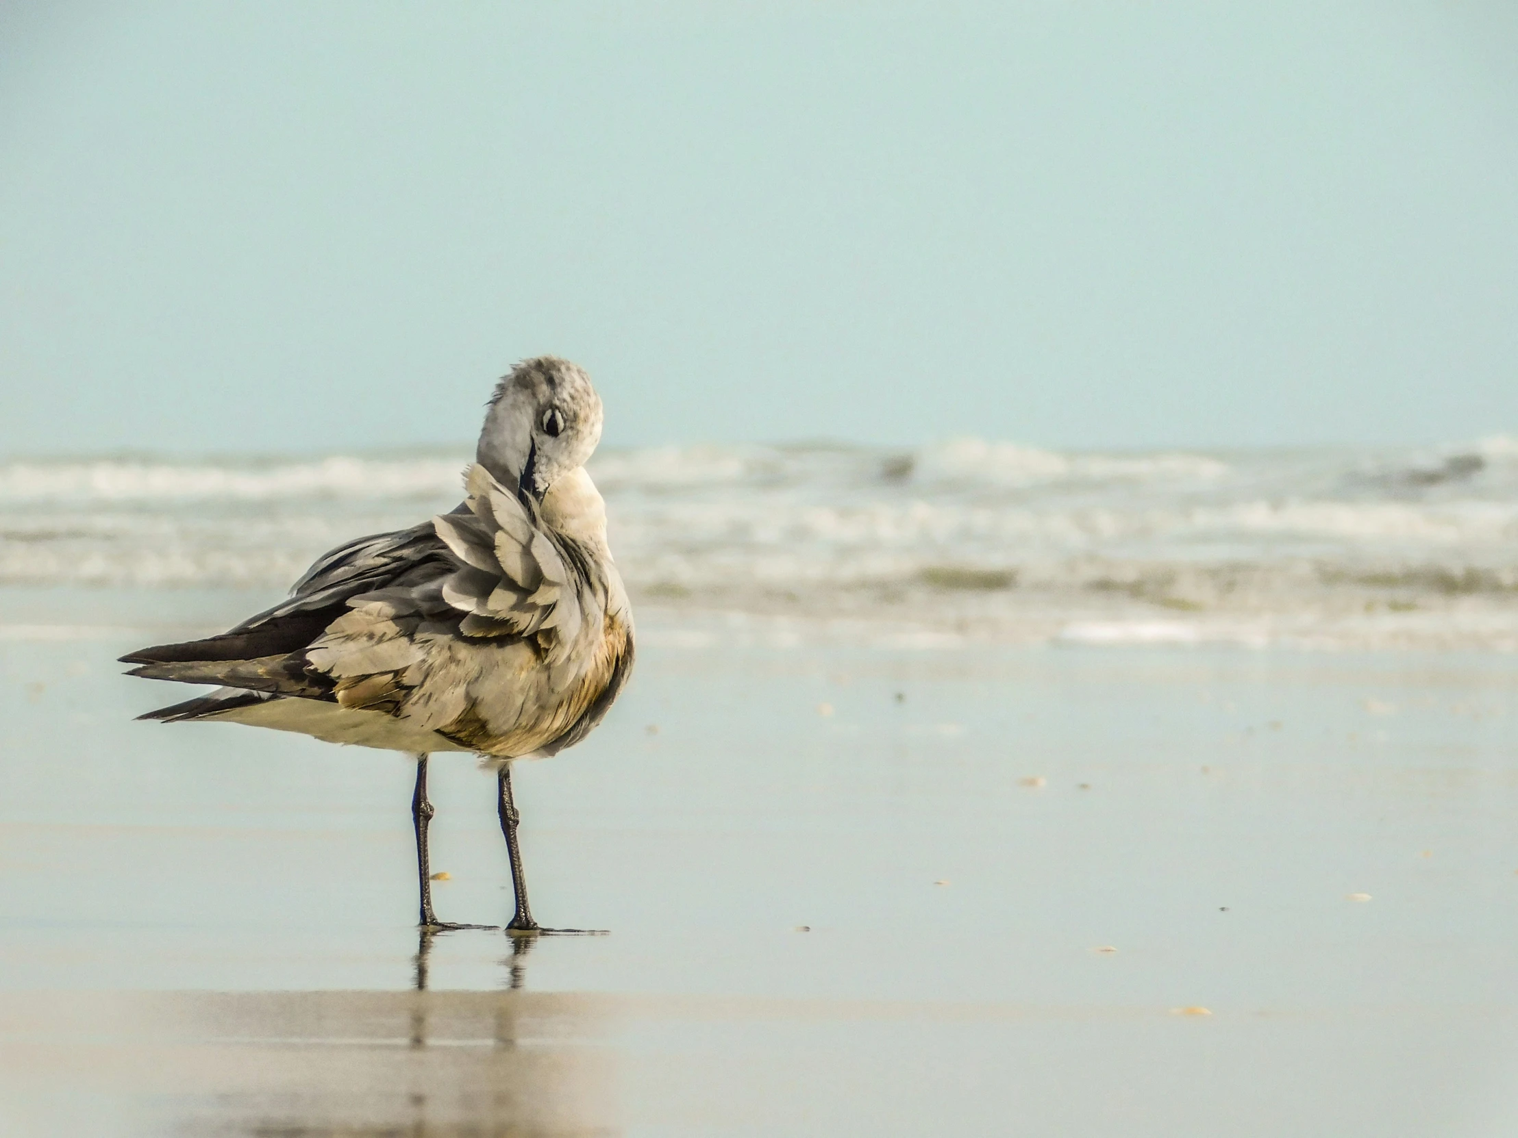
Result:
{"label": "speckled gray head of the preening seagull", "polygon": [[591,376],[568,360],[540,355],[496,384],[475,458],[498,483],[542,501],[600,442],[601,396]]}

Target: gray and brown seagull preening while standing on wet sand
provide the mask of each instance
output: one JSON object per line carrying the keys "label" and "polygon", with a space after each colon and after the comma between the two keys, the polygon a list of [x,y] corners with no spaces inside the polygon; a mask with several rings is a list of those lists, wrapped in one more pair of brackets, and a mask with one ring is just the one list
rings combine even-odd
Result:
{"label": "gray and brown seagull preening while standing on wet sand", "polygon": [[416,756],[411,821],[424,932],[487,929],[433,912],[427,760],[496,768],[512,866],[512,933],[527,904],[512,762],[546,757],[601,722],[633,668],[633,619],[584,470],[601,399],[568,360],[524,360],[487,404],[465,501],[451,513],[323,554],[290,596],[203,640],[121,657],[129,675],[219,684],[140,716],[299,731]]}

